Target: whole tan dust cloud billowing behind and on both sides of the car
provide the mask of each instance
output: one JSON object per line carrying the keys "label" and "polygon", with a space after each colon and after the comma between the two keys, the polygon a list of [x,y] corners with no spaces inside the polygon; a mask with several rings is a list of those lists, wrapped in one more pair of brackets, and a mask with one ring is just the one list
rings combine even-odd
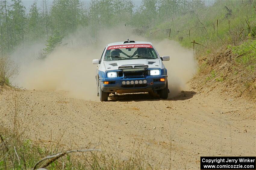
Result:
{"label": "whole tan dust cloud billowing behind and on both sides of the car", "polygon": [[[93,37],[90,30],[83,29],[63,39],[63,44],[66,45],[56,48],[43,60],[31,57],[35,51],[42,50],[38,48],[42,45],[33,45],[28,48],[30,50],[27,53],[14,53],[20,64],[20,73],[14,83],[26,89],[64,90],[71,97],[97,101],[97,66],[92,65],[92,60],[100,58],[108,43],[124,41],[127,38],[150,41],[133,35],[132,30],[126,27],[102,30],[97,37]],[[186,88],[186,82],[196,71],[193,51],[174,41],[151,42],[160,55],[170,55],[170,61],[165,61],[164,65],[168,70],[171,91],[169,97],[172,97]]]}

